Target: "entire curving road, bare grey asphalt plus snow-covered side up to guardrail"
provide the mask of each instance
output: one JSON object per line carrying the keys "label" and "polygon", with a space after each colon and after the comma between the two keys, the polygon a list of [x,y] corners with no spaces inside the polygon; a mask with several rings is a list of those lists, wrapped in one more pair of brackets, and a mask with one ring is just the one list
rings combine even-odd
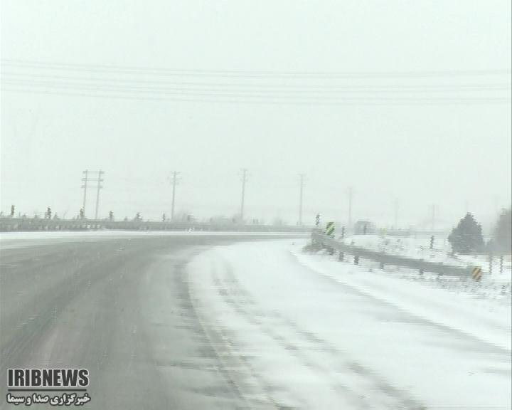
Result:
{"label": "entire curving road, bare grey asphalt plus snow-covered side up to guardrail", "polygon": [[262,238],[2,246],[2,396],[87,367],[90,409],[510,409],[509,304]]}

